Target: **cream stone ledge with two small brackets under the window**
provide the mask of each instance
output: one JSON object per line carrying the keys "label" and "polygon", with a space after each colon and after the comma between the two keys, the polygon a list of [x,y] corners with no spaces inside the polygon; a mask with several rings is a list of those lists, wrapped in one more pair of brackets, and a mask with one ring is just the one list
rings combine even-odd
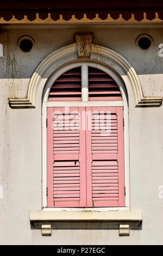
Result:
{"label": "cream stone ledge with two small brackets under the window", "polygon": [[[120,229],[129,235],[142,222],[141,211],[30,211],[30,222],[42,235],[53,229]],[[49,230],[49,231],[48,231]],[[125,231],[123,231],[125,230]]]}

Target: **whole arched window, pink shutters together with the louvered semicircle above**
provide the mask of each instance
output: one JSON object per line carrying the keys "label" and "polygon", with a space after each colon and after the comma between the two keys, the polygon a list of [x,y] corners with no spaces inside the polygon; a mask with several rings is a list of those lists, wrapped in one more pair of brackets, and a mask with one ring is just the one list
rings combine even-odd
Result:
{"label": "whole arched window, pink shutters together with the louvered semicircle above", "polygon": [[49,87],[48,208],[126,206],[124,91],[95,64],[68,69]]}

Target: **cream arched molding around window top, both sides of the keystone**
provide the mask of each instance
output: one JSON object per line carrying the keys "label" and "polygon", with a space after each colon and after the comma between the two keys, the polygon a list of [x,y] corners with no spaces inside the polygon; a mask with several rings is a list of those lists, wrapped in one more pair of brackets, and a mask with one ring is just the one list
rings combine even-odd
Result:
{"label": "cream arched molding around window top, both sides of the keystone", "polygon": [[[61,47],[50,53],[37,66],[32,75],[28,86],[27,98],[9,99],[10,106],[12,108],[34,108],[37,102],[37,92],[41,90],[43,93],[49,77],[61,66],[65,66],[70,62],[76,62],[77,60],[76,44]],[[83,60],[81,59],[81,61]],[[141,84],[133,66],[121,54],[104,46],[92,44],[90,61],[107,65],[119,75],[126,84],[128,95],[130,95],[129,92],[132,89],[136,107],[158,107],[161,105],[162,97],[143,96]]]}

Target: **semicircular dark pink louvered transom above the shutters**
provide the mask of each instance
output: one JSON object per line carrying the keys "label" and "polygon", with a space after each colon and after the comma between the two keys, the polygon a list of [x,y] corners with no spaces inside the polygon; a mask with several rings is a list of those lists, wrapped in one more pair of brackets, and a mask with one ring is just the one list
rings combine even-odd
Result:
{"label": "semicircular dark pink louvered transom above the shutters", "polygon": [[54,82],[49,101],[122,100],[120,88],[106,72],[84,66],[66,71]]}

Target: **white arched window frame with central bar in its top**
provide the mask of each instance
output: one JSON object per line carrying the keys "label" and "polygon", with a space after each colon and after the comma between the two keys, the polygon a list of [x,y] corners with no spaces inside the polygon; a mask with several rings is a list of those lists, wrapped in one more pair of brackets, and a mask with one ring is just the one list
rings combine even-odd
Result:
{"label": "white arched window frame with central bar in its top", "polygon": [[[57,80],[57,78],[64,72],[80,67],[82,68],[82,101],[48,101],[49,91]],[[117,101],[89,101],[89,88],[88,88],[88,66],[100,69],[109,76],[111,76],[122,94],[122,100]],[[45,89],[42,95],[42,208],[43,210],[71,210],[70,208],[47,208],[47,107],[89,107],[89,106],[123,106],[124,110],[124,174],[126,186],[125,207],[114,208],[90,208],[90,210],[129,210],[130,209],[130,188],[129,188],[129,120],[128,120],[128,95],[126,86],[122,78],[116,74],[108,65],[103,65],[95,61],[75,61],[73,63],[61,66],[55,70],[48,78]],[[85,208],[84,208],[85,209]],[[83,208],[73,208],[73,210],[83,210]],[[87,208],[89,210],[89,208]]]}

